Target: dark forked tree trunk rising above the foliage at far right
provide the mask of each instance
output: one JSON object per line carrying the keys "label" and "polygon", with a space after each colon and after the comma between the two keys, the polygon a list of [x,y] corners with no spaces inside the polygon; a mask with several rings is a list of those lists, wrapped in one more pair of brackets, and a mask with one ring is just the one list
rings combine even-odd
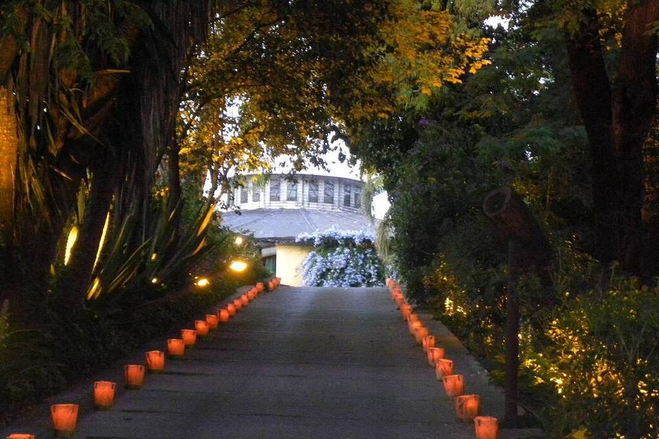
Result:
{"label": "dark forked tree trunk rising above the foliage at far right", "polygon": [[[657,97],[657,38],[647,29],[659,19],[659,0],[629,8],[613,86],[599,42],[597,13],[586,10],[583,15],[586,19],[580,29],[566,40],[574,94],[592,159],[594,253],[605,263],[620,261],[625,270],[643,274],[643,145],[654,121]],[[659,257],[659,249],[645,250]]]}

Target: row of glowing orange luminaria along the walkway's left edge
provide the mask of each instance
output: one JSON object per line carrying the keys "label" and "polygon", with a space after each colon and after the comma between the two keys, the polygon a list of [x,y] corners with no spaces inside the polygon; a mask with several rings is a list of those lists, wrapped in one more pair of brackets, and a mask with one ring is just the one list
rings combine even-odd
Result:
{"label": "row of glowing orange luminaria along the walkway's left edge", "polygon": [[[281,278],[273,278],[268,283],[268,291],[277,288]],[[185,349],[196,344],[197,337],[206,337],[209,331],[218,329],[220,324],[228,323],[235,313],[246,307],[249,302],[266,291],[265,285],[258,282],[248,292],[227,304],[226,307],[218,309],[215,314],[207,314],[205,320],[195,320],[194,329],[181,329],[181,338],[170,338],[167,340],[166,356],[170,359],[181,358],[185,355]],[[124,385],[126,389],[139,390],[143,383],[146,372],[160,373],[165,370],[165,351],[149,351],[145,353],[146,364],[126,364],[124,366]],[[97,410],[110,410],[115,401],[115,388],[117,383],[113,381],[95,381],[94,403]],[[78,424],[78,404],[54,404],[51,405],[51,419],[55,436],[58,438],[70,438],[76,431]],[[7,439],[36,439],[32,434],[14,433]]]}

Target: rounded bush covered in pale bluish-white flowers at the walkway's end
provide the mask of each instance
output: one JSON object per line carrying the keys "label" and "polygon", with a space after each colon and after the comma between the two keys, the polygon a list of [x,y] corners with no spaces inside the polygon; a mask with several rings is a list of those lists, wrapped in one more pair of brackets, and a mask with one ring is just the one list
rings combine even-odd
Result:
{"label": "rounded bush covered in pale bluish-white flowers at the walkway's end", "polygon": [[311,287],[381,287],[386,269],[375,252],[375,237],[361,230],[302,233],[297,242],[314,246],[302,263],[302,281]]}

